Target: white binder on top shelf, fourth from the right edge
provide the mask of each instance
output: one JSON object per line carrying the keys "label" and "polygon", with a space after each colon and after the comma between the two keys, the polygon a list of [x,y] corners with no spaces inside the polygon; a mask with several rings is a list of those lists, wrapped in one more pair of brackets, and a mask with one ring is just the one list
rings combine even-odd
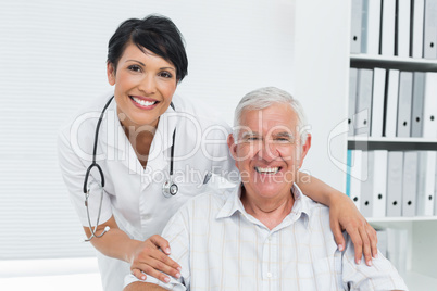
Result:
{"label": "white binder on top shelf, fourth from the right edge", "polygon": [[384,0],[382,13],[380,54],[391,56],[395,55],[396,0]]}

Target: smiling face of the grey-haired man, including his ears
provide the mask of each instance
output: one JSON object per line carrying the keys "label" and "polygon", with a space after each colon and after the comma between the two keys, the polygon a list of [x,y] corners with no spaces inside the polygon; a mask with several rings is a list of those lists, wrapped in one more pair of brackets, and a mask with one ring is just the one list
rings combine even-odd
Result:
{"label": "smiling face of the grey-haired man, including his ears", "polygon": [[245,111],[240,125],[237,140],[229,136],[228,146],[247,193],[265,199],[289,194],[311,144],[311,136],[300,142],[295,111],[288,104]]}

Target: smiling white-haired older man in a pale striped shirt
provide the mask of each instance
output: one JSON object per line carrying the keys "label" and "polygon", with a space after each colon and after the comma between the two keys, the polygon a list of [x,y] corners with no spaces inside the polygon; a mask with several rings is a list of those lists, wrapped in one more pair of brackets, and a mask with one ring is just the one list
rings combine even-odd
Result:
{"label": "smiling white-haired older man in a pale striped shirt", "polygon": [[380,254],[372,266],[357,265],[346,232],[340,252],[328,208],[294,184],[311,147],[305,125],[283,90],[245,96],[228,137],[241,184],[196,197],[168,222],[163,237],[180,278],[128,276],[125,290],[407,290]]}

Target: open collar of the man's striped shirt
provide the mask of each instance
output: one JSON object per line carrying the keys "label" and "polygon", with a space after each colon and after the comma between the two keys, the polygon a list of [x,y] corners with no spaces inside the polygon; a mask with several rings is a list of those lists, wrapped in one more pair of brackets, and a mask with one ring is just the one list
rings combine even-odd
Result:
{"label": "open collar of the man's striped shirt", "polygon": [[[240,184],[232,190],[232,192],[226,199],[225,204],[223,205],[217,216],[215,217],[216,219],[230,217],[236,212],[240,212],[244,216],[250,219],[240,200],[241,187],[242,185]],[[292,185],[291,191],[295,197],[295,203],[292,205],[290,214],[287,215],[287,217],[284,220],[291,219],[290,223],[292,223],[301,218],[303,219],[305,227],[308,227],[309,222],[308,217],[310,216],[311,213],[310,212],[311,200],[302,193],[302,191],[296,184]]]}

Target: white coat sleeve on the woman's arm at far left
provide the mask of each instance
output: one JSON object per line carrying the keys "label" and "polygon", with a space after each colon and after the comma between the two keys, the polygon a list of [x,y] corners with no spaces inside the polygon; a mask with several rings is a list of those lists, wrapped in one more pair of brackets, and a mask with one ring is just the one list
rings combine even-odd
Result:
{"label": "white coat sleeve on the woman's arm at far left", "polygon": [[[58,159],[62,177],[70,193],[70,200],[76,210],[83,226],[89,226],[87,208],[85,206],[84,180],[87,167],[91,161],[85,161],[74,151],[68,136],[70,130],[63,130],[58,136]],[[78,149],[80,150],[80,149]],[[93,170],[97,170],[96,168]],[[91,172],[92,173],[92,172]],[[93,176],[90,175],[88,182]],[[89,215],[92,226],[96,225],[100,206],[100,193],[90,194],[88,199]],[[99,224],[105,223],[112,216],[109,194],[103,191],[102,207]]]}

